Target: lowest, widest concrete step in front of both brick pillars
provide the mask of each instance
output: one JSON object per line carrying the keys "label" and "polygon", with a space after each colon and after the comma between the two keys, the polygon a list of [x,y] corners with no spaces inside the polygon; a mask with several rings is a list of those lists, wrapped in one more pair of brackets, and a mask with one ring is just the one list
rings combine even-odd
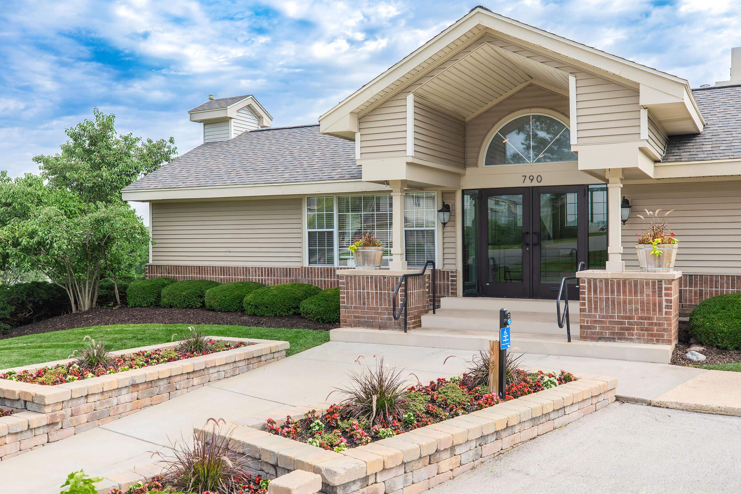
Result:
{"label": "lowest, widest concrete step in front of both brick pillars", "polygon": [[[488,351],[489,341],[499,338],[499,332],[456,329],[410,330],[409,333],[370,328],[338,328],[330,331],[330,341],[348,343],[390,344],[407,347],[447,348],[449,350]],[[535,353],[568,357],[611,358],[639,362],[668,364],[671,345],[618,343],[611,341],[566,341],[565,336],[512,333],[512,353]]]}

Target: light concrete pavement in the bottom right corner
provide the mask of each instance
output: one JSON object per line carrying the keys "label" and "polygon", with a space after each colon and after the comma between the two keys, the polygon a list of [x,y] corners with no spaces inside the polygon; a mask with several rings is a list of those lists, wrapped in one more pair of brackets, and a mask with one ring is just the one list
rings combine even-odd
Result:
{"label": "light concrete pavement in the bottom right corner", "polygon": [[741,418],[619,401],[428,494],[740,493]]}

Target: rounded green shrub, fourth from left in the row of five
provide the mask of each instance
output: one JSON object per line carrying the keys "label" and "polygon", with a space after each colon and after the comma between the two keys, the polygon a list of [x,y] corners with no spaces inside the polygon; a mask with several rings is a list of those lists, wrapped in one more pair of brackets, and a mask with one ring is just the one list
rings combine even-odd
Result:
{"label": "rounded green shrub, fourth from left in the row of five", "polygon": [[245,297],[245,313],[249,316],[293,316],[300,312],[302,301],[321,291],[321,288],[306,283],[259,288]]}

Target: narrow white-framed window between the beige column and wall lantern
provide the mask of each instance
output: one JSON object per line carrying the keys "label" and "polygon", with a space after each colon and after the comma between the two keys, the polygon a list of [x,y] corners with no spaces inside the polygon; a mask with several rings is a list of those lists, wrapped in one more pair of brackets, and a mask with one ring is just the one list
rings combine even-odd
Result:
{"label": "narrow white-framed window between the beige column and wall lantern", "polygon": [[411,192],[404,195],[405,256],[411,267],[422,267],[434,261],[437,200],[434,192]]}

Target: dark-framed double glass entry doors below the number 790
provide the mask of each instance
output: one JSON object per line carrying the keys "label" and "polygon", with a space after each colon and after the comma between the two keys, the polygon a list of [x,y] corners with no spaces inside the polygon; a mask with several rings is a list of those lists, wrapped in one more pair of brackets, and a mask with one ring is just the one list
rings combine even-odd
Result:
{"label": "dark-framed double glass entry doors below the number 790", "polygon": [[[477,192],[479,295],[556,298],[561,278],[588,260],[588,187]],[[576,281],[568,290],[578,298]]]}

